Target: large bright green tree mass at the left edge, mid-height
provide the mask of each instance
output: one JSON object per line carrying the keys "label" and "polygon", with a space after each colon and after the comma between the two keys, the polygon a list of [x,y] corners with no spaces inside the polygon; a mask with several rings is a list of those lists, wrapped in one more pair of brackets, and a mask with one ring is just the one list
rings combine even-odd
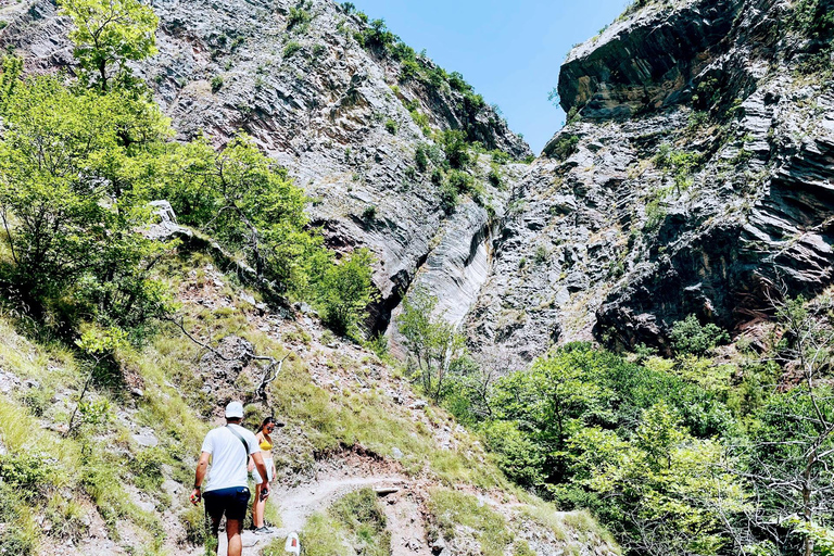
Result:
{"label": "large bright green tree mass at the left edge, mid-height", "polygon": [[3,117],[9,298],[64,325],[84,313],[140,330],[163,314],[166,294],[149,276],[168,245],[136,233],[150,219],[154,154],[169,134],[159,109],[124,90],[75,91],[36,77],[15,86]]}

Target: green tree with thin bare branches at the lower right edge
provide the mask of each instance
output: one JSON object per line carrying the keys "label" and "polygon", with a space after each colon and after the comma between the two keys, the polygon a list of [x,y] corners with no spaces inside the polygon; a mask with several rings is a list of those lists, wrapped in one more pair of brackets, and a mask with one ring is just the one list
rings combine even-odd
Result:
{"label": "green tree with thin bare branches at the lower right edge", "polygon": [[744,470],[760,504],[749,518],[769,541],[810,556],[834,525],[834,302],[771,301],[784,336],[770,357],[798,383],[771,392],[750,427]]}

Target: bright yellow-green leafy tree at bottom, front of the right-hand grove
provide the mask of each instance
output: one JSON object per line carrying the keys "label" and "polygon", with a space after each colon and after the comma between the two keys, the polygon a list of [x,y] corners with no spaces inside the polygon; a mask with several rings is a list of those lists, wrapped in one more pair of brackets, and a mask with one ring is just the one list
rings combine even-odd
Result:
{"label": "bright yellow-green leafy tree at bottom, front of the right-hand grove", "polygon": [[617,508],[636,554],[720,554],[722,517],[745,509],[741,480],[723,470],[724,448],[692,438],[665,403],[643,413],[631,441],[590,428],[571,444],[582,454],[583,482]]}

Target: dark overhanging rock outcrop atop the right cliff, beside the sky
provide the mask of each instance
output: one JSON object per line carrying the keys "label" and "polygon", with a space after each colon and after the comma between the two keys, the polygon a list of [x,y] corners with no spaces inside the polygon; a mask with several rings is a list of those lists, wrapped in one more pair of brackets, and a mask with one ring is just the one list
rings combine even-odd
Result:
{"label": "dark overhanging rock outcrop atop the right cliff, beside the sky", "polygon": [[741,0],[657,1],[573,49],[559,73],[565,112],[627,118],[692,97],[692,81],[721,53]]}

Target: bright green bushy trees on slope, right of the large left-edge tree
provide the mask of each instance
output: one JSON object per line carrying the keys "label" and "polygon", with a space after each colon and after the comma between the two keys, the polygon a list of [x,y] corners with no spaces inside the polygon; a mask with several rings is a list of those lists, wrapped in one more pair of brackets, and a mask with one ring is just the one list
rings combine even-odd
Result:
{"label": "bright green bushy trees on slope, right of the large left-edge tree", "polygon": [[304,193],[285,168],[245,136],[217,153],[207,139],[175,150],[173,179],[157,189],[180,222],[203,228],[227,249],[239,251],[257,276],[280,292],[312,294],[331,255],[318,233],[307,231]]}

